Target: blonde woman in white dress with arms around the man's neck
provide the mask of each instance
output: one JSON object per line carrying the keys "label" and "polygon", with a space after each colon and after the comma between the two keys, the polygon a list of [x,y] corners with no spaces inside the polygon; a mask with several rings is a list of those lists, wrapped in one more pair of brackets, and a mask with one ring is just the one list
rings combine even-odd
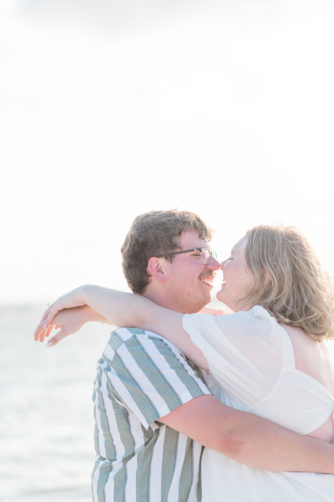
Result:
{"label": "blonde woman in white dress with arms around the man's neck", "polygon": [[[88,304],[119,326],[158,332],[208,369],[228,406],[301,434],[334,440],[334,297],[304,237],[293,228],[249,230],[221,264],[217,293],[235,314],[178,314],[138,295],[84,287],[47,311],[42,336],[62,308]],[[44,331],[43,331],[44,330]],[[224,469],[224,476],[221,475]],[[202,459],[203,502],[333,500],[334,476],[253,469],[217,452]]]}

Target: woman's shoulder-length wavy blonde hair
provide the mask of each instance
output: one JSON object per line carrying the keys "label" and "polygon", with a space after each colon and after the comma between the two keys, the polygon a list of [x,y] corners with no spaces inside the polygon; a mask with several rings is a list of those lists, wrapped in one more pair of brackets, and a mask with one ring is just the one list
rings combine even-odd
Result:
{"label": "woman's shoulder-length wavy blonde hair", "polygon": [[297,228],[248,230],[245,258],[254,284],[241,300],[244,306],[261,305],[277,322],[298,326],[313,340],[334,338],[333,286]]}

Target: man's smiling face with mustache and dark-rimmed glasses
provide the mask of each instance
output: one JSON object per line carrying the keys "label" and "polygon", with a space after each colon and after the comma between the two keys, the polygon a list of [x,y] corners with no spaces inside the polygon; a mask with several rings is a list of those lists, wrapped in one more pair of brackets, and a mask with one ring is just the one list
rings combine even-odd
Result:
{"label": "man's smiling face with mustache and dark-rimmed glasses", "polygon": [[[199,238],[194,231],[184,232],[180,238],[181,251],[194,247],[207,247],[210,245]],[[167,294],[177,312],[198,312],[211,301],[211,290],[214,273],[219,270],[219,263],[212,256],[206,265],[200,260],[199,251],[175,255],[173,263],[166,262],[167,281],[165,283]]]}

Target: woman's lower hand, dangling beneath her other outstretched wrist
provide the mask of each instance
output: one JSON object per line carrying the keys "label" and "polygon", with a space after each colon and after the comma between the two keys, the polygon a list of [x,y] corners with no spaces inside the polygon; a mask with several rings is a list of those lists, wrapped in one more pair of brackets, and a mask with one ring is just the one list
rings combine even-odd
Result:
{"label": "woman's lower hand, dangling beneath her other outstretched wrist", "polygon": [[[46,312],[48,310],[49,309],[47,309]],[[52,338],[50,338],[47,347],[52,347],[66,336],[76,333],[86,322],[105,321],[102,316],[88,307],[88,305],[74,308],[62,308],[62,310],[52,317],[52,321],[48,322],[48,324],[45,323],[45,319],[46,317],[44,313],[42,320],[35,331],[35,341],[39,340],[40,342],[43,342],[44,339],[50,335],[53,329],[60,328],[60,330]]]}

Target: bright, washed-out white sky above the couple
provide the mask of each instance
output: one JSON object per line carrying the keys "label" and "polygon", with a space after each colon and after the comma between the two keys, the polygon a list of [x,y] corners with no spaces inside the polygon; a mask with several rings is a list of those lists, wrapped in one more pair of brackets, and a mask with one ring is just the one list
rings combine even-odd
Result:
{"label": "bright, washed-out white sky above the couple", "polygon": [[334,4],[2,0],[0,302],[124,289],[151,209],[198,213],[225,259],[297,225],[334,274]]}

